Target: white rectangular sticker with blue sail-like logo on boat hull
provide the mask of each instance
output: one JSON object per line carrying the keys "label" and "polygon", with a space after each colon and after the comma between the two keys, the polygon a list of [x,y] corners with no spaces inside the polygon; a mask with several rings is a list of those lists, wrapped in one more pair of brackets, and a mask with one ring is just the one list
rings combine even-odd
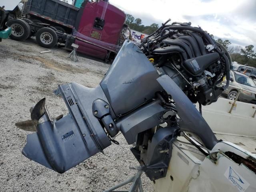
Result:
{"label": "white rectangular sticker with blue sail-like logo on boat hull", "polygon": [[245,191],[250,184],[236,172],[232,167],[228,167],[224,176],[240,191]]}

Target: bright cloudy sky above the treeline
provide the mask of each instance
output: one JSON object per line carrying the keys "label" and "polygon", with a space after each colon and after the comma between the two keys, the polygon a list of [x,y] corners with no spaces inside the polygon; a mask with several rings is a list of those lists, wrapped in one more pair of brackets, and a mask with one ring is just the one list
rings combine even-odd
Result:
{"label": "bright cloudy sky above the treeline", "polygon": [[109,0],[142,24],[191,22],[232,45],[256,46],[256,0]]}

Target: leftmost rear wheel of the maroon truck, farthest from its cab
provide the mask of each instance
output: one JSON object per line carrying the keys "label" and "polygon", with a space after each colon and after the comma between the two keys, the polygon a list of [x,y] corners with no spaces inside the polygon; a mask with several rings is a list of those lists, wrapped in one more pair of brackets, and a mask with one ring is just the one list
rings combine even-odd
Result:
{"label": "leftmost rear wheel of the maroon truck, farthest from its cab", "polygon": [[30,36],[30,26],[28,23],[21,19],[12,19],[6,23],[7,26],[12,28],[10,38],[13,40],[25,40]]}

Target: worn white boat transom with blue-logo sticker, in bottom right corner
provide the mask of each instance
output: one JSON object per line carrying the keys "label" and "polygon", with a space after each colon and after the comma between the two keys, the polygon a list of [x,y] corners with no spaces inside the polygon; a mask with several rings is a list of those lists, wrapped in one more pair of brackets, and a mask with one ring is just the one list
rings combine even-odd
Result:
{"label": "worn white boat transom with blue-logo sticker, in bottom right corner", "polygon": [[182,145],[173,144],[166,177],[152,182],[156,192],[256,192],[256,174],[224,153],[230,151],[256,161],[254,154],[232,143],[220,142],[212,150],[218,151],[218,160],[214,162],[184,150]]}

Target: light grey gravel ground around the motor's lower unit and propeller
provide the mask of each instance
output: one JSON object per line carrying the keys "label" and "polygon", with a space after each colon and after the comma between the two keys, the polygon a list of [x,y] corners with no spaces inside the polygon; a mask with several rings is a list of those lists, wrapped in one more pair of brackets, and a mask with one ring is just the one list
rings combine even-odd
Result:
{"label": "light grey gravel ground around the motor's lower unit and propeller", "polygon": [[[58,84],[77,82],[95,87],[110,67],[79,56],[80,62],[66,59],[68,52],[54,48],[52,52],[35,44],[31,38],[24,42],[0,42],[0,191],[85,191],[101,192],[133,176],[129,165],[138,165],[124,137],[120,145],[112,144],[64,174],[58,174],[21,154],[30,132],[19,130],[15,122],[30,118],[29,108],[41,98],[51,116],[67,114],[62,98],[55,96]],[[154,191],[150,180],[142,175],[144,191]],[[121,188],[124,190],[124,188]]]}

